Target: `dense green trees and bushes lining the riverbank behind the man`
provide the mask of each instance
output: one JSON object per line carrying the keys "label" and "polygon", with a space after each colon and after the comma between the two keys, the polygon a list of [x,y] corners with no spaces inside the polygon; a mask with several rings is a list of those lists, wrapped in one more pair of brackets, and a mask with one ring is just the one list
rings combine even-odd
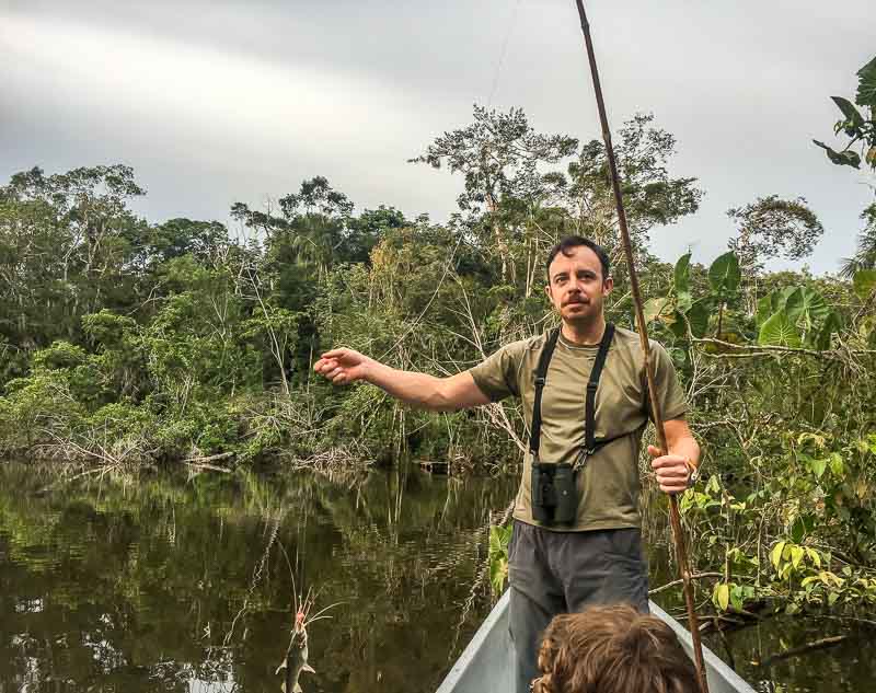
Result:
{"label": "dense green trees and bushes lining the riverbank behind the man", "polygon": [[[849,146],[819,146],[876,168],[876,61],[860,76],[854,104],[834,100]],[[615,140],[650,328],[705,450],[705,480],[682,499],[696,571],[718,574],[701,587],[737,616],[872,612],[876,204],[839,276],[768,270],[805,259],[823,231],[805,199],[770,190],[728,211],[737,233],[708,267],[666,264],[649,233],[694,215],[703,190],[670,173],[675,138],[650,116]],[[544,258],[570,233],[609,251],[609,317],[632,326],[603,146],[475,107],[414,164],[463,181],[446,223],[357,212],[321,176],[264,207],[234,204],[229,227],[140,218],[145,190],[125,165],[13,175],[0,188],[0,451],[107,465],[518,462],[514,403],[427,414],[310,367],[343,344],[449,374],[542,332]]]}

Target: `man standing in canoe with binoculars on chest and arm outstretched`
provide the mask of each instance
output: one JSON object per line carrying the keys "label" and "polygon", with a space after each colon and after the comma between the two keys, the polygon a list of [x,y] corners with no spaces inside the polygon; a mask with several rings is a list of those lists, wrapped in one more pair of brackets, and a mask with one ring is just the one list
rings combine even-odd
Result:
{"label": "man standing in canoe with binoculars on chest and arm outstretched", "polygon": [[[449,378],[343,348],[314,365],[335,384],[364,380],[436,412],[521,399],[530,438],[508,569],[517,693],[538,675],[538,640],[554,615],[618,602],[648,610],[637,460],[649,397],[638,335],[606,323],[612,287],[606,252],[569,236],[548,257],[545,291],[561,328],[508,344]],[[650,354],[669,453],[648,452],[660,489],[677,494],[695,477],[700,447],[669,355],[654,342]]]}

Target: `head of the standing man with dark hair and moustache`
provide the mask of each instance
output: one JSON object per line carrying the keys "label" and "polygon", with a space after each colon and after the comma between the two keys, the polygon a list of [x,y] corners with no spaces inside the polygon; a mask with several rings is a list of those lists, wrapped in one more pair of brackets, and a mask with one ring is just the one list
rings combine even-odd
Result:
{"label": "head of the standing man with dark hair and moustache", "polygon": [[565,322],[589,323],[602,314],[602,303],[614,282],[611,277],[602,277],[599,257],[586,245],[573,247],[569,253],[554,257],[545,290]]}

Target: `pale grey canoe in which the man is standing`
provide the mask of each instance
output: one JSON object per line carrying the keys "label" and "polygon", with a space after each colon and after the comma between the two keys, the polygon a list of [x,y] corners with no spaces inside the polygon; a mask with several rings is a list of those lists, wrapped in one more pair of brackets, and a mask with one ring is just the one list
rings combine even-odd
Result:
{"label": "pale grey canoe in which the man is standing", "polygon": [[[514,691],[514,645],[508,635],[508,600],[506,590],[438,688],[438,693]],[[650,612],[671,626],[688,654],[691,654],[690,633],[654,602],[650,602]],[[703,647],[703,658],[710,693],[756,693],[706,647]]]}

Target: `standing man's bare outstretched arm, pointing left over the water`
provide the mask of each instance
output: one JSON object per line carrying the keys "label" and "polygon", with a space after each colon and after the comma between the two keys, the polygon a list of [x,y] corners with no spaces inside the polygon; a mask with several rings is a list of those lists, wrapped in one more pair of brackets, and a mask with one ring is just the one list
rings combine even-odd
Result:
{"label": "standing man's bare outstretched arm, pointing left over the water", "polygon": [[433,412],[452,412],[489,403],[489,397],[468,371],[449,378],[436,378],[390,368],[354,349],[326,351],[313,365],[313,370],[336,385],[357,380],[370,382],[405,404]]}

